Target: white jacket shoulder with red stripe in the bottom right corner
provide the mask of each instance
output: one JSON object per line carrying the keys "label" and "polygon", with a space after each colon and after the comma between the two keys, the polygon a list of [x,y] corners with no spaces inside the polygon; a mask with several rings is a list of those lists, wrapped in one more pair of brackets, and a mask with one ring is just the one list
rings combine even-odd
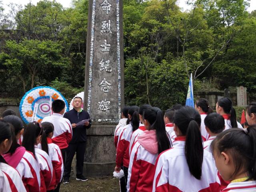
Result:
{"label": "white jacket shoulder with red stripe in the bottom right corner", "polygon": [[234,182],[222,190],[222,192],[255,192],[256,181]]}

